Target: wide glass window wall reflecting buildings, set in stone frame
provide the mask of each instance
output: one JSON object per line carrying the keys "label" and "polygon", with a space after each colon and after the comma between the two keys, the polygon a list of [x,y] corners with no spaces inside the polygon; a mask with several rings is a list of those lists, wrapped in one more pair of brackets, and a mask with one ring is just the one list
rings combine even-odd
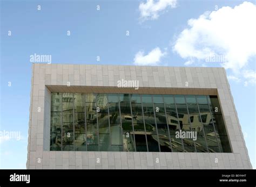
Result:
{"label": "wide glass window wall reflecting buildings, set in stone frame", "polygon": [[50,150],[230,153],[217,96],[51,93]]}

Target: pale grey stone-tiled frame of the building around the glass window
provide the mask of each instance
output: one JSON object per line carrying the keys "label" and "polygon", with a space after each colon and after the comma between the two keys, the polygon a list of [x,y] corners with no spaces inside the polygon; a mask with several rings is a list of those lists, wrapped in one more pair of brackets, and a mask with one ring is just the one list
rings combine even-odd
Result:
{"label": "pale grey stone-tiled frame of the building around the glass window", "polygon": [[[216,93],[232,153],[50,151],[51,91]],[[69,84],[69,86],[68,86]],[[99,159],[99,163],[97,162]],[[159,159],[159,163],[156,162]],[[218,162],[216,163],[216,159]],[[32,64],[28,169],[252,169],[224,68]]]}

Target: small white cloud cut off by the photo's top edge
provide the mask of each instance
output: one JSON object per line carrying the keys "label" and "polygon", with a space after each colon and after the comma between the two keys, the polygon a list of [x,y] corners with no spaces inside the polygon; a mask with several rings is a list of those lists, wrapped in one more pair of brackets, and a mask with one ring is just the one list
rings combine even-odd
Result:
{"label": "small white cloud cut off by the photo's top edge", "polygon": [[176,8],[177,0],[147,0],[146,3],[139,4],[140,18],[142,20],[157,19],[159,13],[164,11],[167,7]]}

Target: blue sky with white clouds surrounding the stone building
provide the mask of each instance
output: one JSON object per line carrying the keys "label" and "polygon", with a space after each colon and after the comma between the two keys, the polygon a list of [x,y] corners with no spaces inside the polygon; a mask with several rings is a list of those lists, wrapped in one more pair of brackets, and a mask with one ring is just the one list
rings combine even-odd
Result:
{"label": "blue sky with white clouds surrounding the stone building", "polygon": [[1,1],[1,131],[21,139],[0,139],[0,168],[25,169],[36,53],[52,63],[225,67],[255,169],[255,20],[255,1]]}

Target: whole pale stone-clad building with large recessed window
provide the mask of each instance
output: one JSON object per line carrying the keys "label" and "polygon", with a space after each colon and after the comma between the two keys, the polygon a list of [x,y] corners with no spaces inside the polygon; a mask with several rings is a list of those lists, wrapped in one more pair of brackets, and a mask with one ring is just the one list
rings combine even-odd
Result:
{"label": "whole pale stone-clad building with large recessed window", "polygon": [[252,169],[224,68],[32,64],[28,169]]}

